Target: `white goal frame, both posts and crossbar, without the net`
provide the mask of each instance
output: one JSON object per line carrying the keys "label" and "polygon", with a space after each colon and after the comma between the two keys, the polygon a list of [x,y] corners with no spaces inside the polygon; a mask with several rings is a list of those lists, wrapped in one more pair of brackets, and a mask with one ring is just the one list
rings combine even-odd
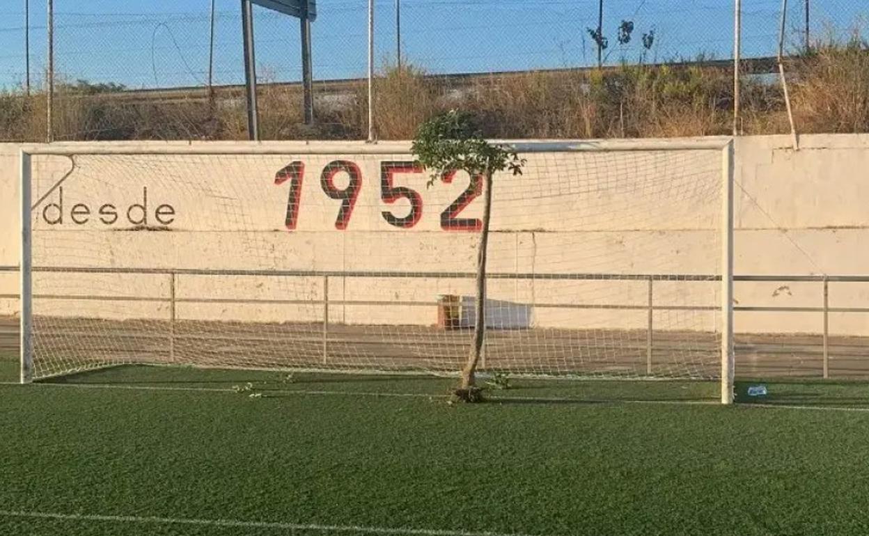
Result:
{"label": "white goal frame, both posts and crossbar, without the net", "polygon": [[[721,264],[720,264],[720,386],[721,403],[733,403],[733,203],[734,142],[732,138],[714,137],[680,141],[600,141],[600,142],[502,142],[518,153],[541,152],[636,152],[636,151],[718,151],[721,158]],[[283,155],[395,155],[408,154],[407,142],[367,144],[362,142],[214,142],[197,145],[112,143],[44,144],[21,149],[21,383],[33,380],[33,259],[32,259],[32,168],[33,156],[283,156]]]}

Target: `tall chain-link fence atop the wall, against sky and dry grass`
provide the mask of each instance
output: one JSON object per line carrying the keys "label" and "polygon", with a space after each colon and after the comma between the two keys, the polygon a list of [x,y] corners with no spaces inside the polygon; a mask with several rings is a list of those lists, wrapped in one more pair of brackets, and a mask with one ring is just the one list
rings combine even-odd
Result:
{"label": "tall chain-link fence atop the wall, against sky and dry grass", "polygon": [[[247,139],[241,2],[213,5],[212,17],[211,0],[54,0],[54,139]],[[744,82],[744,132],[786,130],[777,80],[765,76],[778,51],[781,6],[744,2],[744,70],[758,75]],[[0,10],[0,138],[42,141],[46,0],[8,0]],[[367,136],[368,3],[320,0],[317,11],[315,123],[305,125],[299,21],[254,9],[262,139]],[[789,0],[786,53],[826,52],[828,73],[862,69],[866,17],[862,0]],[[836,56],[854,36],[863,41],[851,43],[853,54]],[[732,128],[728,1],[382,0],[375,2],[374,44],[381,138],[407,138],[422,118],[453,107],[479,112],[492,136],[679,136]],[[599,63],[605,69],[595,70]],[[813,75],[805,66],[793,70],[799,116],[800,102],[810,100],[800,81]],[[826,128],[869,128],[869,112],[856,113]],[[825,128],[823,118],[808,122],[808,130]]]}

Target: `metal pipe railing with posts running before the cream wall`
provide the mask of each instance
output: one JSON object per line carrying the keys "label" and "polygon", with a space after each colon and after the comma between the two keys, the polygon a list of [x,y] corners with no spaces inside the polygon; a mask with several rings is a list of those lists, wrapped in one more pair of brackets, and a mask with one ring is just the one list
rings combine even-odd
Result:
{"label": "metal pipe railing with posts running before the cream wall", "polygon": [[[17,272],[17,266],[0,266],[0,272]],[[222,303],[222,304],[269,304],[269,305],[310,305],[320,304],[323,307],[323,356],[328,351],[329,308],[342,305],[387,306],[400,305],[408,307],[433,307],[437,301],[362,301],[362,300],[329,300],[328,287],[332,278],[379,278],[379,279],[474,279],[474,272],[400,272],[400,271],[338,271],[338,270],[242,270],[242,269],[196,269],[196,268],[75,268],[75,267],[34,267],[34,272],[66,273],[66,274],[127,274],[127,275],[165,275],[169,277],[169,296],[136,297],[107,296],[98,294],[34,294],[40,300],[68,301],[137,301],[169,304],[170,324],[170,356],[174,356],[175,327],[177,305],[179,303]],[[322,278],[323,298],[321,300],[262,300],[235,298],[179,298],[176,295],[177,278],[181,275],[236,275],[258,277],[308,277]],[[663,275],[663,274],[532,274],[532,273],[493,273],[487,275],[490,280],[514,281],[646,281],[647,302],[642,305],[626,304],[584,304],[584,303],[534,303],[535,308],[565,308],[565,309],[610,309],[647,311],[647,372],[651,374],[653,367],[653,332],[655,311],[716,311],[714,306],[693,305],[658,305],[654,301],[654,283],[656,281],[720,281],[720,275]],[[869,275],[736,275],[733,281],[740,282],[818,282],[822,284],[823,299],[820,307],[753,307],[734,306],[734,311],[763,313],[819,313],[822,314],[823,336],[823,374],[829,378],[830,364],[830,322],[831,313],[869,313],[869,307],[830,307],[830,283],[867,283]],[[0,299],[17,300],[19,294],[0,294]]]}

